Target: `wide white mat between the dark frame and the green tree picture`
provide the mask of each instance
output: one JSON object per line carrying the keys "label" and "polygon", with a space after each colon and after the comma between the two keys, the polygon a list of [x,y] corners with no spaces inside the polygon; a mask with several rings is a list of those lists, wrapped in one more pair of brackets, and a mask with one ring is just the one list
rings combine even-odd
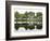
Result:
{"label": "wide white mat between the dark frame and the green tree picture", "polygon": [[[21,9],[37,9],[34,12],[36,13],[36,11],[38,12],[39,10],[41,10],[40,12],[42,12],[42,29],[41,30],[18,30],[16,31],[14,29],[14,12],[17,10],[17,8]],[[15,10],[14,10],[15,9]],[[46,35],[46,6],[26,6],[26,5],[11,5],[11,37],[27,37],[27,36],[42,36]]]}

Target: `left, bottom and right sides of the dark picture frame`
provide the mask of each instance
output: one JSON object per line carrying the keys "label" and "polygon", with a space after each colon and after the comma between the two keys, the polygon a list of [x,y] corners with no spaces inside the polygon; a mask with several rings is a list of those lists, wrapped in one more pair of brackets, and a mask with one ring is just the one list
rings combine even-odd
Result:
{"label": "left, bottom and right sides of the dark picture frame", "polygon": [[[12,2],[12,1],[11,1]],[[15,1],[17,2],[17,1]],[[20,1],[21,2],[21,1]],[[5,39],[7,40],[20,40],[20,39],[39,39],[39,38],[49,38],[49,3],[41,3],[47,5],[47,36],[40,36],[40,37],[25,37],[25,38],[10,38],[10,12],[9,12],[9,2],[5,1]],[[26,2],[25,2],[26,3]],[[27,2],[28,3],[28,2]],[[32,2],[30,2],[32,3]],[[33,2],[33,3],[37,3],[37,2]],[[40,3],[40,2],[38,2]],[[8,13],[9,12],[9,13]],[[9,19],[8,19],[9,18]],[[8,28],[7,28],[8,27]]]}

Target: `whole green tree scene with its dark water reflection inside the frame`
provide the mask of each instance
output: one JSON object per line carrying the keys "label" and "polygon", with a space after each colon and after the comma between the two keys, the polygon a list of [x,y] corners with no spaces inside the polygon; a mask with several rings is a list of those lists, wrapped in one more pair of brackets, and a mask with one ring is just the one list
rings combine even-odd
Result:
{"label": "whole green tree scene with its dark water reflection inside the frame", "polygon": [[[15,29],[17,30],[20,27],[24,27],[27,29],[35,29],[35,26],[37,29],[42,29],[42,13],[37,12],[35,15],[35,12],[25,12],[24,14],[20,14],[17,11],[14,13],[14,22],[15,22]],[[17,22],[21,22],[17,23]],[[26,22],[26,23],[23,23]],[[29,22],[29,23],[27,23]],[[32,23],[33,22],[33,23]]]}

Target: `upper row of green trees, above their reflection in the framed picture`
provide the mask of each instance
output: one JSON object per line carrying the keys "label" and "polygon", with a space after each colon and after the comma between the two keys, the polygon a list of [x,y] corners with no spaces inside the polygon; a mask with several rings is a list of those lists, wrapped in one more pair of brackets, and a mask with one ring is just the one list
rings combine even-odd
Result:
{"label": "upper row of green trees, above their reflection in the framed picture", "polygon": [[22,14],[23,16],[21,16],[21,14],[16,11],[16,12],[15,12],[15,17],[16,17],[16,18],[18,18],[18,17],[26,18],[26,17],[32,17],[32,16],[33,16],[33,17],[42,16],[42,13],[41,13],[41,12],[37,12],[36,14],[37,14],[37,16],[35,16],[35,12],[27,12],[27,11],[26,11],[26,12],[24,13],[24,15]]}

